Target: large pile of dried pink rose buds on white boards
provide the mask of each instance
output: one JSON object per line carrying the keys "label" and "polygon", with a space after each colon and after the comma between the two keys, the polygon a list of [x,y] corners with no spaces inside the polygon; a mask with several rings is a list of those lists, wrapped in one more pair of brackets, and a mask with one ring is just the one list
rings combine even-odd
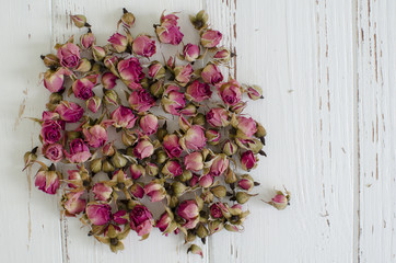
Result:
{"label": "large pile of dried pink rose buds on white boards", "polygon": [[[42,56],[50,92],[35,118],[43,146],[25,153],[26,167],[40,165],[35,185],[53,195],[61,190],[65,215],[79,217],[114,252],[130,230],[145,239],[156,227],[186,242],[240,231],[249,214],[242,205],[258,185],[247,172],[265,156],[266,136],[243,114],[243,96],[263,95],[257,85],[225,80],[220,68],[234,54],[219,46],[222,34],[209,28],[208,14],[190,16],[200,42],[182,44],[163,64],[150,58],[184,37],[174,13],[162,14],[155,39],[132,35],[136,19],[124,9],[104,46],[85,16],[71,20],[88,28],[80,43],[71,37]],[[158,219],[143,198],[161,205]],[[197,244],[188,252],[202,254]]]}

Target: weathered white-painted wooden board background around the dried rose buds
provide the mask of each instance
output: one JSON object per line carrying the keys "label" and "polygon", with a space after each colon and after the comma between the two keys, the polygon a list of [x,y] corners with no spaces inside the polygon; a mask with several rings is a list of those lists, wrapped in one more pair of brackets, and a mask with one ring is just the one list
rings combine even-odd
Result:
{"label": "weathered white-painted wooden board background around the dried rose buds", "polygon": [[[396,262],[396,1],[394,0],[1,0],[1,262]],[[180,237],[130,235],[123,253],[63,218],[57,198],[34,187],[22,155],[38,142],[47,91],[39,59],[77,33],[84,13],[105,42],[125,7],[154,34],[163,10],[206,9],[231,70],[264,88],[249,113],[268,129],[268,158],[254,175],[259,196],[243,233],[209,239],[205,258]],[[188,34],[188,33],[186,33]],[[45,94],[45,95],[44,95]],[[260,202],[286,185],[292,205]]]}

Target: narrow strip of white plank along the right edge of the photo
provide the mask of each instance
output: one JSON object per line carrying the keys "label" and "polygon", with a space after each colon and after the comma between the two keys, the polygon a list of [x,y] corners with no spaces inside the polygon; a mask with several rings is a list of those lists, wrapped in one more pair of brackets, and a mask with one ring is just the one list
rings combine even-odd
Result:
{"label": "narrow strip of white plank along the right edge of the photo", "polygon": [[396,262],[395,1],[357,1],[359,262]]}

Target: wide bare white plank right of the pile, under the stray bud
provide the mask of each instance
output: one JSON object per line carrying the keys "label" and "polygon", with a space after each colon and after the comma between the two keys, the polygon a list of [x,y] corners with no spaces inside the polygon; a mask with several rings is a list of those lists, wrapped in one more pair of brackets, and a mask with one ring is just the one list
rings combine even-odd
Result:
{"label": "wide bare white plank right of the pile, under the stray bud", "polygon": [[[237,1],[236,77],[264,88],[247,111],[268,128],[261,186],[242,235],[210,241],[211,262],[351,262],[353,45],[350,1]],[[277,211],[272,186],[292,192]]]}

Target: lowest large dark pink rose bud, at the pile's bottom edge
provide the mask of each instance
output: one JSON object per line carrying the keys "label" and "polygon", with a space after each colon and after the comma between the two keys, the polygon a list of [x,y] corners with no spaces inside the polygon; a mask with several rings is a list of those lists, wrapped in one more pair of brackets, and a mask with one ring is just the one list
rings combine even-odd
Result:
{"label": "lowest large dark pink rose bud, at the pile's bottom edge", "polygon": [[142,205],[136,205],[129,214],[130,228],[135,230],[138,236],[143,237],[151,232],[154,220],[150,210]]}

